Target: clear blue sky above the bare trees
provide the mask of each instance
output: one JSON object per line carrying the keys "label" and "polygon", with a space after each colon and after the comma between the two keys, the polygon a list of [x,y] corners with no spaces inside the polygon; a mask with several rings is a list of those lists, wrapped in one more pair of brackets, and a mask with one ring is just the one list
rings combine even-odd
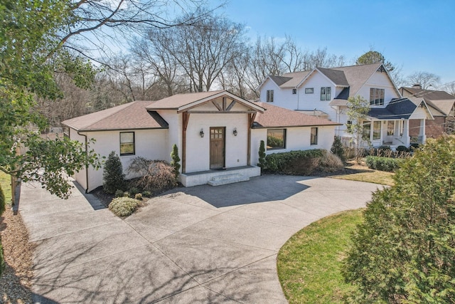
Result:
{"label": "clear blue sky above the bare trees", "polygon": [[373,47],[404,75],[422,70],[441,83],[455,80],[454,0],[230,0],[218,13],[244,23],[253,41],[288,35],[302,49],[327,47],[347,63]]}

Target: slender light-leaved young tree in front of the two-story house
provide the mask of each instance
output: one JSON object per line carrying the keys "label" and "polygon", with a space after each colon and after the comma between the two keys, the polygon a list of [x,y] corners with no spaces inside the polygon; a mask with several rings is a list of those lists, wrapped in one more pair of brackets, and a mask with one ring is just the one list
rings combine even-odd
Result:
{"label": "slender light-leaved young tree in front of the two-story house", "polygon": [[355,144],[355,161],[360,162],[362,157],[362,149],[360,144],[362,140],[367,140],[369,138],[363,139],[363,121],[367,119],[368,112],[370,111],[370,103],[368,100],[363,98],[360,95],[355,97],[348,98],[348,120],[350,120],[350,125],[346,125],[348,128],[348,133],[353,135],[351,142]]}

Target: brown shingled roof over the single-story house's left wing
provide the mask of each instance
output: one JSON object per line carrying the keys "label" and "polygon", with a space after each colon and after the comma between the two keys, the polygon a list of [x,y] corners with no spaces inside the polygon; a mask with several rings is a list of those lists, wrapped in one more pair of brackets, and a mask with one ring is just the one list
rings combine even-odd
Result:
{"label": "brown shingled roof over the single-story house's left wing", "polygon": [[117,107],[63,121],[78,131],[166,129],[167,122],[157,113],[149,112],[150,101],[133,101]]}

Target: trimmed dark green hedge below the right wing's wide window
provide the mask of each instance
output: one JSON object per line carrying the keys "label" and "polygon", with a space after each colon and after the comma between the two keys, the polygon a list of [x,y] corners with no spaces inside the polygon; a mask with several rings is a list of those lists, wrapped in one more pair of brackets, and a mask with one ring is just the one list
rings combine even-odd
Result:
{"label": "trimmed dark green hedge below the right wing's wide window", "polygon": [[319,166],[319,160],[326,150],[298,150],[268,154],[265,157],[267,169],[284,174],[311,174]]}

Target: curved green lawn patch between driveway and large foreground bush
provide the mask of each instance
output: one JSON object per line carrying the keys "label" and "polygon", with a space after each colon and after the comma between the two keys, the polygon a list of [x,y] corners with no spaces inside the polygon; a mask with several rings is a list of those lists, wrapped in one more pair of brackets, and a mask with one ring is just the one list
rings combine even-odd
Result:
{"label": "curved green lawn patch between driveway and large foreground bush", "polygon": [[362,209],[328,216],[305,227],[280,249],[279,281],[289,303],[342,303],[352,291],[341,276],[350,233],[362,221]]}

